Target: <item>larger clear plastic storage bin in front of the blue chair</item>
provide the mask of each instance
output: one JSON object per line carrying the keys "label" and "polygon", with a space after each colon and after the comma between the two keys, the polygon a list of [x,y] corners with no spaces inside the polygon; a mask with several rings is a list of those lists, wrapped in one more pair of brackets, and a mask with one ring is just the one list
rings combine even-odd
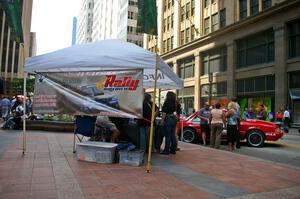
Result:
{"label": "larger clear plastic storage bin in front of the blue chair", "polygon": [[117,144],[84,141],[77,143],[77,159],[97,163],[113,163]]}

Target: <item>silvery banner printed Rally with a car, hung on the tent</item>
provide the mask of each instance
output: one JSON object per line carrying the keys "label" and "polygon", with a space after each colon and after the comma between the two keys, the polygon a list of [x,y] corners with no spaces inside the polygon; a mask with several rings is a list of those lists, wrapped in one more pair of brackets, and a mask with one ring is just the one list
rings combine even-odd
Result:
{"label": "silvery banner printed Rally with a car, hung on the tent", "polygon": [[142,117],[143,71],[39,73],[35,79],[36,114]]}

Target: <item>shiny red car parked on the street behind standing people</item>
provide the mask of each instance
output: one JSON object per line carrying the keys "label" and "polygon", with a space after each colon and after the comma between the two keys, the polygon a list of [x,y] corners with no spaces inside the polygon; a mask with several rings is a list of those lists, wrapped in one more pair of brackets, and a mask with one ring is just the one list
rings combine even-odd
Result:
{"label": "shiny red car parked on the street behind standing people", "polygon": [[[183,129],[183,141],[193,143],[201,140],[200,118],[198,112],[178,122],[177,134],[181,137]],[[183,128],[182,128],[183,125]],[[283,132],[277,125],[262,120],[242,120],[239,126],[240,140],[246,139],[247,144],[253,147],[262,147],[265,141],[277,141],[283,136]],[[222,132],[222,138],[226,138],[226,130]]]}

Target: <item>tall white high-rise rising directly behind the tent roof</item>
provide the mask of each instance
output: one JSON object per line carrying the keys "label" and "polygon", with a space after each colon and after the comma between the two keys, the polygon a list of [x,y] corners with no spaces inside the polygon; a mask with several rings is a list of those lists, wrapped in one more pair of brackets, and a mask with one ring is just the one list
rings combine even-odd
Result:
{"label": "tall white high-rise rising directly behind the tent roof", "polygon": [[92,41],[122,39],[143,46],[143,34],[136,32],[137,0],[95,0]]}

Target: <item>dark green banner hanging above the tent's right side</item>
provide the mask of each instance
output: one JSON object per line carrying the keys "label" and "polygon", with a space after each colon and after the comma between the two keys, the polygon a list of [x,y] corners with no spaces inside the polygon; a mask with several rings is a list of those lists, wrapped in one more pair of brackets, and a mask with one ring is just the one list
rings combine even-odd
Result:
{"label": "dark green banner hanging above the tent's right side", "polygon": [[137,32],[157,35],[156,0],[138,1]]}

